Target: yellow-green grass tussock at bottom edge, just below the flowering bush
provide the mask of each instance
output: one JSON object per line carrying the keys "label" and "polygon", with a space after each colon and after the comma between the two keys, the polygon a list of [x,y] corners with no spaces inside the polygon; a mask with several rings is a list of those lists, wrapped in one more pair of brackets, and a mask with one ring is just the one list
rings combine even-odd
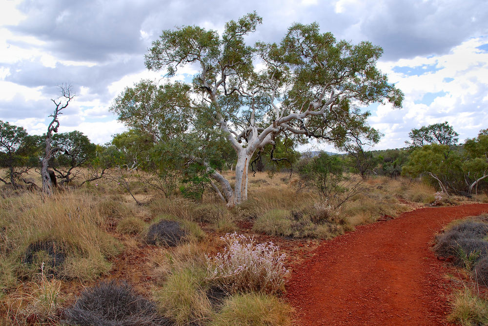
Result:
{"label": "yellow-green grass tussock at bottom edge, just below the flowering bush", "polygon": [[224,300],[212,326],[287,326],[291,308],[278,298],[263,293],[234,294]]}

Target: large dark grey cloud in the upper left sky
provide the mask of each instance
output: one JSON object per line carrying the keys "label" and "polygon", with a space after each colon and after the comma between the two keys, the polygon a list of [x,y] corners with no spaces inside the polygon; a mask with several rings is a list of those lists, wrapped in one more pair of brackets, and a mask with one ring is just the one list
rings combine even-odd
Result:
{"label": "large dark grey cloud in the upper left sky", "polygon": [[140,26],[158,1],[24,1],[26,19],[13,31],[35,36],[63,59],[109,59],[145,49]]}

